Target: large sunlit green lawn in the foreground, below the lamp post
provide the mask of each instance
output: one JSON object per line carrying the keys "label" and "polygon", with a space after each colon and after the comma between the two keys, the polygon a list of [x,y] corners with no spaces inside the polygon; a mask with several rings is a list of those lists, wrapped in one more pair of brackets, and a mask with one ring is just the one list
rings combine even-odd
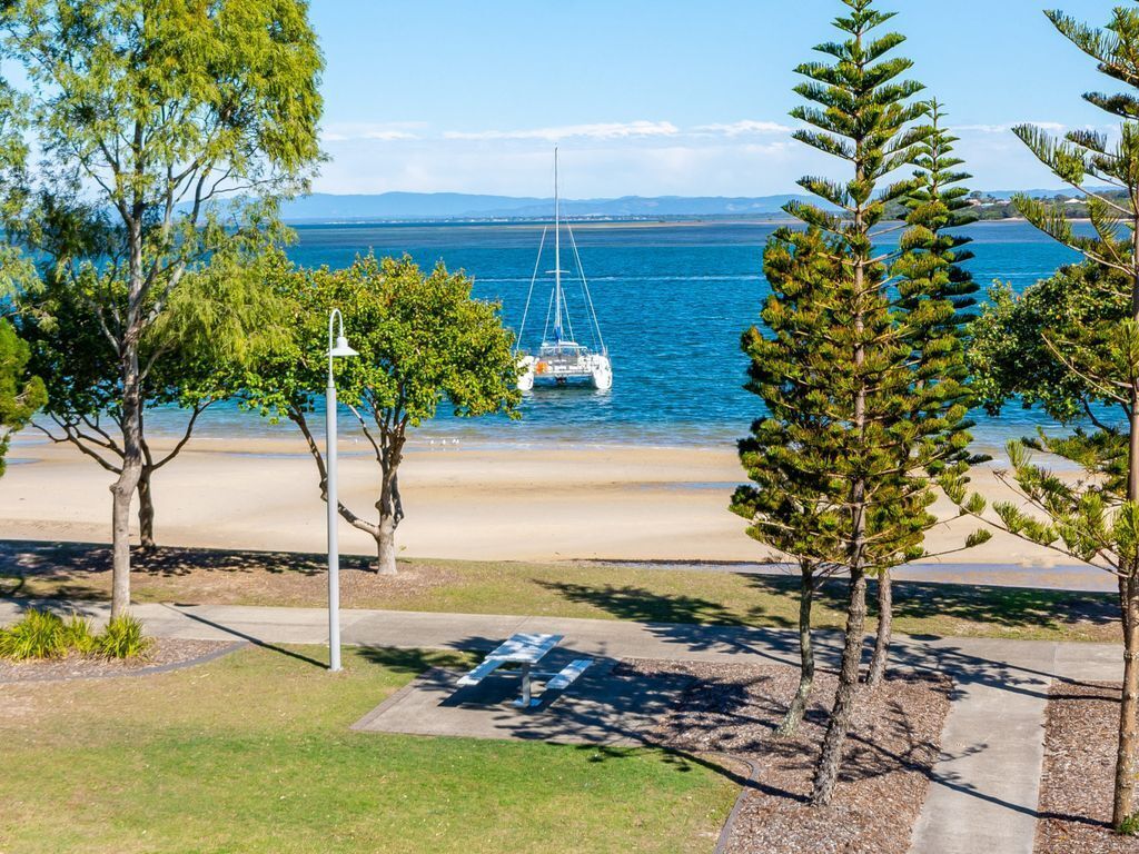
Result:
{"label": "large sunlit green lawn in the foreground, below the lamp post", "polygon": [[649,749],[355,733],[461,656],[249,649],[0,689],[0,852],[708,852],[738,791]]}

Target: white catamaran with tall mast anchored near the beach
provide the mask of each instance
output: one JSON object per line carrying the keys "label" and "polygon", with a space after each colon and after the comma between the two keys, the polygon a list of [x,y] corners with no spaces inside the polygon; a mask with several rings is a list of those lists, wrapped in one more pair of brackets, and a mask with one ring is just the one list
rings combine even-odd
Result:
{"label": "white catamaran with tall mast anchored near the beach", "polygon": [[[566,293],[562,287],[562,276],[570,274],[568,270],[562,269],[562,212],[558,198],[558,149],[554,149],[554,269],[549,272],[554,274],[554,289],[550,293],[549,306],[546,310],[546,326],[542,329],[542,343],[538,353],[531,354],[519,351],[524,372],[518,377],[518,388],[528,392],[535,384],[567,385],[573,381],[591,383],[595,388],[613,387],[613,366],[609,363],[609,353],[605,347],[605,339],[601,337],[601,328],[597,323],[597,312],[593,311],[593,299],[589,294],[589,284],[585,281],[585,271],[581,265],[581,256],[577,254],[577,243],[573,237],[573,229],[570,223],[565,223],[566,233],[570,236],[570,245],[573,247],[573,256],[577,266],[577,278],[581,281],[581,295],[585,313],[589,315],[589,335],[592,338],[592,347],[585,346],[576,340],[573,321],[570,319],[570,307],[566,303]],[[526,320],[530,318],[530,303],[534,296],[534,282],[538,280],[538,270],[542,263],[542,251],[546,248],[546,235],[548,227],[542,229],[542,240],[538,247],[538,261],[534,262],[534,274],[530,279],[530,293],[526,295],[526,309],[522,315],[522,327],[518,329],[519,345],[526,332]]]}

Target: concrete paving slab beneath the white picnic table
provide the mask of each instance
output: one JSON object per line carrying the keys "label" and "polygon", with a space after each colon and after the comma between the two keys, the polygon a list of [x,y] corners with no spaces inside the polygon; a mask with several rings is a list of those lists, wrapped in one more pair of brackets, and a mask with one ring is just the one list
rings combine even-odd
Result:
{"label": "concrete paving slab beneath the white picnic table", "polygon": [[[568,660],[558,650],[551,670]],[[550,654],[549,658],[552,658]],[[543,666],[546,660],[543,659]],[[568,745],[636,746],[689,684],[685,676],[647,679],[616,662],[597,662],[565,691],[538,691],[541,705],[518,709],[516,675],[498,672],[459,688],[462,671],[434,668],[382,703],[352,729],[417,736],[517,739]]]}

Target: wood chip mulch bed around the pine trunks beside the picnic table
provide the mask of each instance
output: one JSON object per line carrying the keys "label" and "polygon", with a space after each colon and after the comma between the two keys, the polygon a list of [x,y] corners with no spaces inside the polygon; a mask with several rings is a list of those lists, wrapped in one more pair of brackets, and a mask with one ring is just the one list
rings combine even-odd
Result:
{"label": "wood chip mulch bed around the pine trunks beside the picnic table", "polygon": [[778,738],[775,729],[798,684],[795,668],[661,662],[628,666],[646,674],[695,678],[680,705],[653,733],[654,741],[689,754],[732,755],[757,769],[724,854],[909,851],[949,713],[948,678],[898,678],[863,693],[835,799],[829,807],[814,810],[806,799],[836,676],[818,674],[798,733]]}

